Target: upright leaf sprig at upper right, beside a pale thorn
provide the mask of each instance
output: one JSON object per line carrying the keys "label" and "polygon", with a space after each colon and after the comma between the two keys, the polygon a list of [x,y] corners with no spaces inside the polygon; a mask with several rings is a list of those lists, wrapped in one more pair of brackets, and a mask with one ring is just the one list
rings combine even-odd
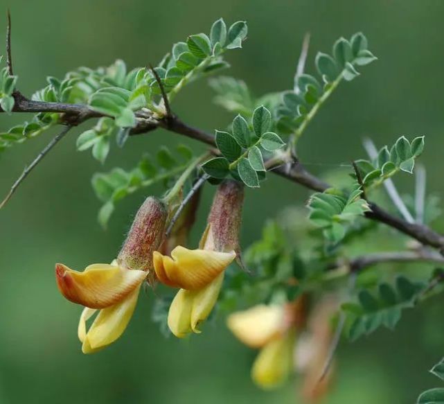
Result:
{"label": "upright leaf sprig at upper right, beside a pale thorn", "polygon": [[294,90],[283,94],[283,101],[276,109],[278,130],[281,133],[297,132],[342,79],[350,81],[359,76],[356,67],[376,59],[367,48],[366,37],[356,33],[350,41],[338,39],[333,46],[332,56],[319,52],[316,67],[323,85],[309,74],[296,76]]}

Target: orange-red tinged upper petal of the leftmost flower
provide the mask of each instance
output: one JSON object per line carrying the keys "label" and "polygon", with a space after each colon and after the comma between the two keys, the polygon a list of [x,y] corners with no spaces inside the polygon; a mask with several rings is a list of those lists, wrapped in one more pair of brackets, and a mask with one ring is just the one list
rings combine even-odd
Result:
{"label": "orange-red tinged upper petal of the leftmost flower", "polygon": [[55,265],[57,286],[66,299],[89,308],[105,308],[124,299],[141,285],[147,272],[109,264],[89,265],[83,272]]}

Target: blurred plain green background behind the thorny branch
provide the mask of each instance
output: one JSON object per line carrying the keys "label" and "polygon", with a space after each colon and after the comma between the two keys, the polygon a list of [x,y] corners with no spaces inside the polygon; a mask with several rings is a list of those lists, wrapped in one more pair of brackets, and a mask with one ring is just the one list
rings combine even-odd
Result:
{"label": "blurred plain green background behind the thorny branch", "polygon": [[[62,77],[79,65],[96,67],[116,58],[130,67],[156,63],[173,42],[208,32],[219,17],[248,21],[249,39],[242,51],[229,53],[227,73],[262,94],[292,86],[306,31],[312,33],[307,69],[314,72],[316,51],[330,51],[338,37],[362,30],[379,60],[340,86],[303,137],[300,155],[320,173],[329,166],[319,163],[339,166],[364,157],[364,135],[382,145],[401,134],[425,134],[427,187],[442,193],[443,1],[0,0],[0,11],[8,7],[15,73],[25,94],[43,87],[46,76]],[[6,30],[6,18],[0,29]],[[177,98],[175,110],[188,123],[223,128],[230,116],[211,98],[211,89],[199,82]],[[0,129],[24,118],[2,114]],[[50,136],[3,153],[2,194]],[[254,387],[249,367],[256,353],[234,340],[223,319],[189,340],[165,339],[150,320],[152,296],[141,296],[116,344],[96,355],[80,353],[80,308],[57,292],[54,263],[82,268],[112,259],[145,196],[121,203],[103,231],[92,173],[131,168],[142,152],[161,144],[202,146],[159,130],[131,139],[123,150],[114,147],[100,166],[89,152],[74,151],[75,139],[74,133],[66,137],[0,211],[0,403],[295,403],[294,383],[277,392]],[[400,188],[411,189],[412,178],[401,177]],[[203,229],[212,191],[205,191],[193,240]],[[242,244],[249,245],[278,209],[303,205],[307,197],[303,188],[269,176],[260,190],[247,193]],[[396,332],[341,344],[326,403],[412,403],[439,385],[427,369],[444,353],[443,303],[431,299],[410,310]]]}

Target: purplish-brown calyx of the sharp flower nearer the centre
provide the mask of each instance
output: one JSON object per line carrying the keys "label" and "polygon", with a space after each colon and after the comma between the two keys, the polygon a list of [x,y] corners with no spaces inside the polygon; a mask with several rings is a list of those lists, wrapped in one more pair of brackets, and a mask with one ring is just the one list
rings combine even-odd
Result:
{"label": "purplish-brown calyx of the sharp flower nearer the centre", "polygon": [[[208,227],[201,243],[216,251],[239,251],[239,231],[242,222],[242,204],[244,187],[237,181],[228,179],[217,188],[211,211],[208,215]],[[211,243],[208,241],[211,240]],[[208,248],[209,249],[209,248]]]}

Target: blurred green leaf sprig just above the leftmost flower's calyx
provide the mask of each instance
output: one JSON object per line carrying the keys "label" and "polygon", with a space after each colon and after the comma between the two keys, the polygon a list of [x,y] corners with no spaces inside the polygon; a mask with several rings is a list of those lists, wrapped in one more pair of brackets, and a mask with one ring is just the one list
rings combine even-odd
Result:
{"label": "blurred green leaf sprig just above the leftmost flower's calyx", "polygon": [[109,173],[96,173],[92,177],[92,186],[98,199],[103,202],[98,213],[100,225],[106,227],[116,202],[141,188],[159,182],[168,184],[188,167],[192,158],[193,152],[186,146],[179,145],[177,157],[167,148],[161,148],[155,159],[145,155],[130,171],[113,168]]}

